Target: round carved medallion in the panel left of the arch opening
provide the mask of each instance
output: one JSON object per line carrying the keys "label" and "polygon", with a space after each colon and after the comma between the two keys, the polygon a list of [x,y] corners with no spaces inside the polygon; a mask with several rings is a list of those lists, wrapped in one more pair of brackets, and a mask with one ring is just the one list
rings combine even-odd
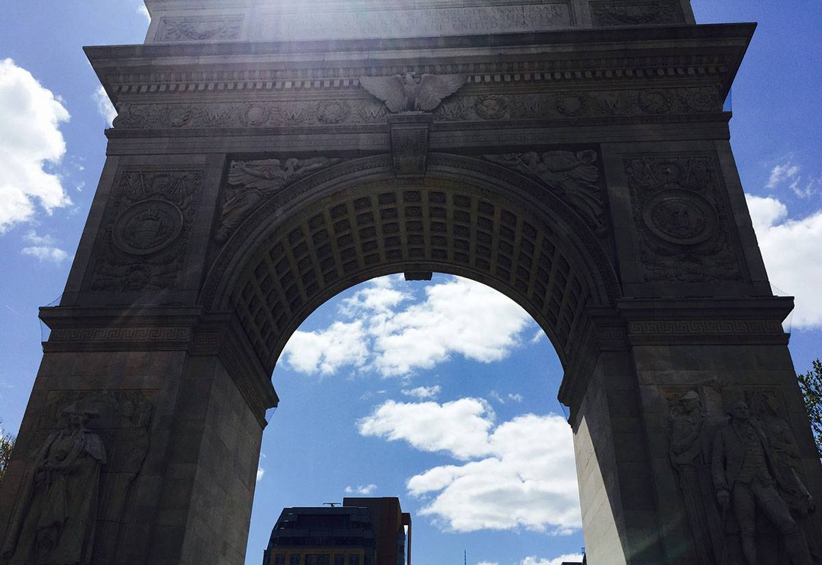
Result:
{"label": "round carved medallion in the panel left of the arch opening", "polygon": [[182,232],[182,212],[165,200],[144,200],[114,222],[114,245],[131,255],[151,255],[173,243]]}

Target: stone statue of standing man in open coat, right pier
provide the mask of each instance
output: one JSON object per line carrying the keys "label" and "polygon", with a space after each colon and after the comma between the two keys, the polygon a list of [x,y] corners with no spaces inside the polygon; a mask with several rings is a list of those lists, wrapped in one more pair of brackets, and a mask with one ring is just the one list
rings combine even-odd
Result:
{"label": "stone statue of standing man in open coat, right pier", "polygon": [[760,565],[755,544],[757,512],[768,517],[783,535],[792,565],[810,565],[804,536],[778,492],[781,477],[767,436],[750,419],[745,402],[736,402],[728,413],[730,420],[713,439],[713,484],[723,512],[732,512],[737,519],[748,565]]}

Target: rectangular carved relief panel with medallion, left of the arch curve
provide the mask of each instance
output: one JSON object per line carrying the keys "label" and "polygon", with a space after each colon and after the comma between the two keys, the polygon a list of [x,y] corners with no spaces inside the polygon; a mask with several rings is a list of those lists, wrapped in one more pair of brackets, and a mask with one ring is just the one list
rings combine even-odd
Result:
{"label": "rectangular carved relief panel with medallion, left of the arch curve", "polygon": [[123,172],[109,197],[88,288],[177,287],[201,181],[201,171]]}

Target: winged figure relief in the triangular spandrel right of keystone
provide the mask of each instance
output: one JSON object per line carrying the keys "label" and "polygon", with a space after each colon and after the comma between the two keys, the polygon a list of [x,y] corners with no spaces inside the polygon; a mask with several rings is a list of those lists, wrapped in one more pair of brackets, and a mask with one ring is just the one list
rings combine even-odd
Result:
{"label": "winged figure relief in the triangular spandrel right of keystone", "polygon": [[561,195],[598,235],[605,232],[598,156],[593,150],[485,155],[487,160],[537,177]]}

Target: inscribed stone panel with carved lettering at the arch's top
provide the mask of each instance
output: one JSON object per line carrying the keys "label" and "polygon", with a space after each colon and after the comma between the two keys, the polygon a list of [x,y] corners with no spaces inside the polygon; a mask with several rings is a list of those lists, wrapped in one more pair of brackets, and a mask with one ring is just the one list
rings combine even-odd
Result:
{"label": "inscribed stone panel with carved lettering at the arch's top", "polygon": [[254,39],[377,39],[559,30],[568,2],[406,10],[264,14]]}

